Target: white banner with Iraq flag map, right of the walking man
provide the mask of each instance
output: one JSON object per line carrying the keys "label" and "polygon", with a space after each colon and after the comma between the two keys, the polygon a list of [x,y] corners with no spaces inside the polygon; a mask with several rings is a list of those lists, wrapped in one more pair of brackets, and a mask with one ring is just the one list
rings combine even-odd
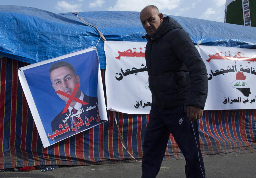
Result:
{"label": "white banner with Iraq flag map, right of the walking man", "polygon": [[256,50],[199,46],[207,68],[205,110],[256,108]]}

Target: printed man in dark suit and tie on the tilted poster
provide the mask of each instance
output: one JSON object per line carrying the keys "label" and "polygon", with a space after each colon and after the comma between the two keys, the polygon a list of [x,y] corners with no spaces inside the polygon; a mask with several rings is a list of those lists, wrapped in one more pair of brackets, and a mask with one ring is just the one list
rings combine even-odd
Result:
{"label": "printed man in dark suit and tie on the tilted poster", "polygon": [[103,122],[99,116],[98,98],[81,92],[80,78],[71,64],[65,61],[54,63],[49,76],[57,95],[66,103],[52,121],[55,142]]}

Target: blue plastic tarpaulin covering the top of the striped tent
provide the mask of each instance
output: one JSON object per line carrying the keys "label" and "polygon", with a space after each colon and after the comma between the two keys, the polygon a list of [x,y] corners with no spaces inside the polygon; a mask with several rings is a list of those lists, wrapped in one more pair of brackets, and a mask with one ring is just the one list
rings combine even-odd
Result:
{"label": "blue plastic tarpaulin covering the top of the striped tent", "polygon": [[[166,16],[166,15],[164,15]],[[256,49],[256,28],[202,19],[172,16],[197,44]],[[106,40],[145,41],[139,12],[79,12],[85,22],[99,28]],[[70,13],[55,14],[24,6],[0,6],[0,55],[35,63],[96,46],[94,27]],[[104,42],[97,45],[100,67],[106,68]]]}

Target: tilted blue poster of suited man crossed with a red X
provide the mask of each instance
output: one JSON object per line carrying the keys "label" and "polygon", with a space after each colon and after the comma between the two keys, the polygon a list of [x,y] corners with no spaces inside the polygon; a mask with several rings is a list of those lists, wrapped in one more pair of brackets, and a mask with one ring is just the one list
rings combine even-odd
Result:
{"label": "tilted blue poster of suited man crossed with a red X", "polygon": [[22,67],[18,76],[44,148],[107,121],[95,48]]}

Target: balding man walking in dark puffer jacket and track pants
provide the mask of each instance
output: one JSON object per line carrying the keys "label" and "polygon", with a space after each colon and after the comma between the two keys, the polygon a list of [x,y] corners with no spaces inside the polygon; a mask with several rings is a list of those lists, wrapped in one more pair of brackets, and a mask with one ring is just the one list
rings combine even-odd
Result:
{"label": "balding man walking in dark puffer jacket and track pants", "polygon": [[172,133],[185,159],[187,177],[205,177],[197,121],[207,97],[206,67],[191,38],[156,6],[140,12],[147,32],[145,59],[152,105],[146,128],[142,177],[156,177]]}

